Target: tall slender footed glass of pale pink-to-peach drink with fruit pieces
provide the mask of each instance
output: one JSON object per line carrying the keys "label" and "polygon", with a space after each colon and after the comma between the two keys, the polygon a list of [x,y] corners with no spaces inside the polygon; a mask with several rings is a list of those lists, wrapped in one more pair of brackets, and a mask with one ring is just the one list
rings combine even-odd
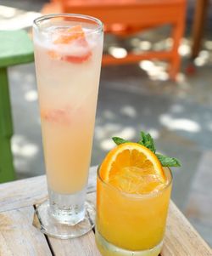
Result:
{"label": "tall slender footed glass of pale pink-to-peach drink with fruit pieces", "polygon": [[86,184],[103,24],[81,14],[49,14],[34,21],[33,41],[49,197],[36,213],[47,235],[81,236],[94,217]]}

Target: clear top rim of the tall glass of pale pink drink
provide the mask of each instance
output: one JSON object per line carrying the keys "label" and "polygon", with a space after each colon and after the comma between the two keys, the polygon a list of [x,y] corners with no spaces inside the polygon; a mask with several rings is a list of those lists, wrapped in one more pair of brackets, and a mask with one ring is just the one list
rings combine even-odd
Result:
{"label": "clear top rim of the tall glass of pale pink drink", "polygon": [[59,18],[59,17],[76,18],[76,19],[81,19],[81,20],[85,20],[85,21],[86,20],[92,20],[98,26],[97,26],[97,28],[93,29],[92,31],[89,31],[88,34],[103,31],[103,22],[101,20],[98,20],[98,18],[89,16],[89,15],[84,15],[84,14],[58,13],[58,14],[42,15],[42,16],[36,18],[35,20],[33,20],[33,27],[34,28],[40,28],[40,26],[39,26],[40,22],[42,22],[44,20],[50,20],[50,19],[53,19],[53,18]]}

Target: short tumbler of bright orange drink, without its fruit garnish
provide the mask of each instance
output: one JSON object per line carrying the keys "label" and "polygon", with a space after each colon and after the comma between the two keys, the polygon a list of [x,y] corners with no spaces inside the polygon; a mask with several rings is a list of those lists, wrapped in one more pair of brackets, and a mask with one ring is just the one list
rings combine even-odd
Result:
{"label": "short tumbler of bright orange drink, without its fruit garnish", "polygon": [[147,194],[128,194],[97,180],[96,242],[103,256],[158,256],[165,235],[172,175]]}

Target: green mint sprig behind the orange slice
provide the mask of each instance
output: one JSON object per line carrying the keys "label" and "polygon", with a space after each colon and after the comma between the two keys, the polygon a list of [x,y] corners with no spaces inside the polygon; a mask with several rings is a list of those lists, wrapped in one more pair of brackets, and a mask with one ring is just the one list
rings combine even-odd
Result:
{"label": "green mint sprig behind the orange slice", "polygon": [[[162,166],[164,167],[180,167],[181,162],[170,156],[164,156],[156,152],[156,148],[153,142],[153,137],[150,134],[145,134],[144,132],[141,132],[140,134],[141,138],[137,141],[138,144],[146,146],[150,151],[153,151],[153,153],[159,158],[159,162],[161,162]],[[130,142],[126,139],[122,139],[120,137],[113,137],[114,143],[116,145],[120,145],[126,142]]]}

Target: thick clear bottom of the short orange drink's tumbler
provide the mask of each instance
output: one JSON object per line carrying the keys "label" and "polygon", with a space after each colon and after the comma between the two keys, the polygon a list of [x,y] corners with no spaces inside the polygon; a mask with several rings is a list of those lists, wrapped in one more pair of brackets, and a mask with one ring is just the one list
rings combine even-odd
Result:
{"label": "thick clear bottom of the short orange drink's tumbler", "polygon": [[98,250],[103,256],[158,256],[161,252],[163,242],[160,242],[156,247],[144,251],[129,251],[120,247],[114,246],[103,238],[96,229],[96,243]]}

